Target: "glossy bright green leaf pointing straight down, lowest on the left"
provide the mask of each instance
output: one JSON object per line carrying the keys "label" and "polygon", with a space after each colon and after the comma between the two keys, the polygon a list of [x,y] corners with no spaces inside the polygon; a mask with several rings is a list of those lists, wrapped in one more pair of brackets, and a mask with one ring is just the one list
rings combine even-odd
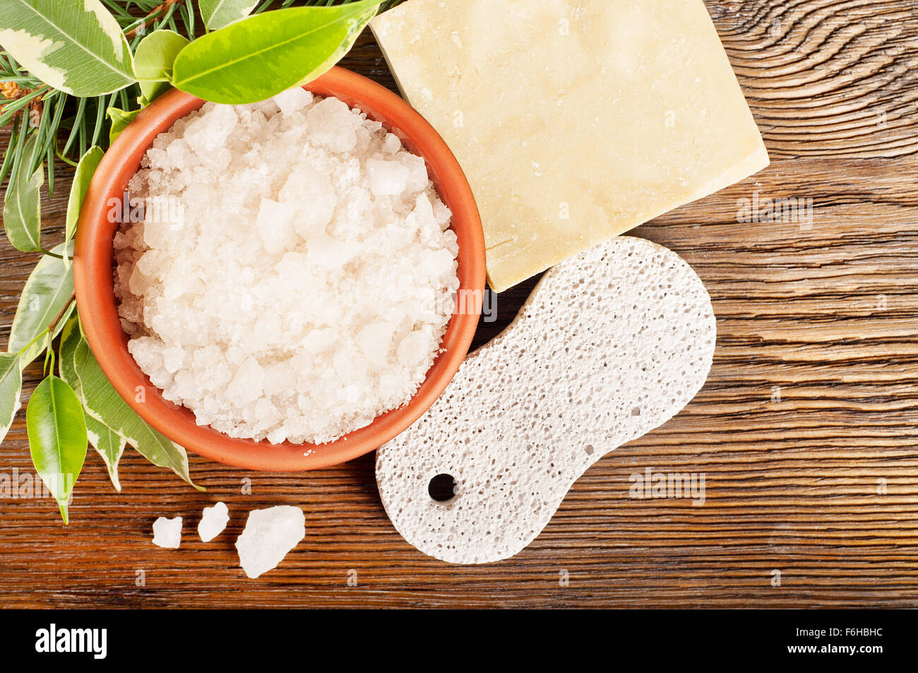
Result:
{"label": "glossy bright green leaf pointing straight down, lowest on the left", "polygon": [[66,524],[67,502],[86,459],[83,405],[66,381],[52,375],[39,383],[28,400],[26,429],[32,463]]}

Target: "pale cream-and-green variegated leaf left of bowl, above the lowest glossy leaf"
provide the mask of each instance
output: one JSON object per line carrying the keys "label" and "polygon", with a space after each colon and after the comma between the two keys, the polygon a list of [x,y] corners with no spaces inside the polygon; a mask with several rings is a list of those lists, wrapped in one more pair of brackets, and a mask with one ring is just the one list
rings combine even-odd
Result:
{"label": "pale cream-and-green variegated leaf left of bowl, above the lowest glossy leaf", "polygon": [[[73,254],[73,242],[67,246],[62,243],[51,252],[69,257]],[[72,295],[73,267],[66,260],[50,255],[43,256],[28,276],[26,286],[22,288],[16,317],[9,332],[9,346],[6,350],[9,353],[17,353],[26,349],[19,356],[22,367],[32,362],[44,350],[44,340],[35,341],[36,337],[45,331]],[[63,323],[64,320],[58,321],[52,339],[61,333]]]}

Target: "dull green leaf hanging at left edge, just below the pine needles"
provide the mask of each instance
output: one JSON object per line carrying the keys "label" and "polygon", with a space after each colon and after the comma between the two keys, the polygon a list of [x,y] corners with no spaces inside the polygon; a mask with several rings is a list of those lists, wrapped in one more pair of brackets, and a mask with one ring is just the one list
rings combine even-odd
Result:
{"label": "dull green leaf hanging at left edge, just below the pine needles", "polygon": [[[2,1],[2,0],[0,0]],[[35,151],[35,134],[22,150],[22,163],[16,175],[10,176],[3,203],[3,226],[6,238],[17,250],[41,250],[41,185],[45,182],[45,165],[28,174],[28,163]]]}

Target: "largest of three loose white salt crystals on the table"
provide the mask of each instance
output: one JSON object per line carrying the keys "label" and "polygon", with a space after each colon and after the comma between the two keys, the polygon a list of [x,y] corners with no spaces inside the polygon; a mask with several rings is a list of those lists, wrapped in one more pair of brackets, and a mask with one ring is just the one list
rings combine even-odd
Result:
{"label": "largest of three loose white salt crystals on the table", "polygon": [[245,574],[257,578],[284,560],[306,537],[306,516],[291,505],[252,510],[245,530],[236,541],[239,562]]}

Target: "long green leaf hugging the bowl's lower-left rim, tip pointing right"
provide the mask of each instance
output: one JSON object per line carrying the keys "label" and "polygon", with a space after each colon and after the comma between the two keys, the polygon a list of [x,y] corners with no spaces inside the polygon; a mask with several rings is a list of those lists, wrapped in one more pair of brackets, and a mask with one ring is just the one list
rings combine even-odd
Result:
{"label": "long green leaf hugging the bowl's lower-left rim, tip pointing right", "polygon": [[[68,321],[62,332],[60,363],[61,376],[83,401],[87,416],[110,428],[153,465],[168,467],[191,486],[204,490],[188,474],[185,449],[147,425],[108,382],[77,319]],[[100,453],[104,450],[98,444],[94,446]]]}

